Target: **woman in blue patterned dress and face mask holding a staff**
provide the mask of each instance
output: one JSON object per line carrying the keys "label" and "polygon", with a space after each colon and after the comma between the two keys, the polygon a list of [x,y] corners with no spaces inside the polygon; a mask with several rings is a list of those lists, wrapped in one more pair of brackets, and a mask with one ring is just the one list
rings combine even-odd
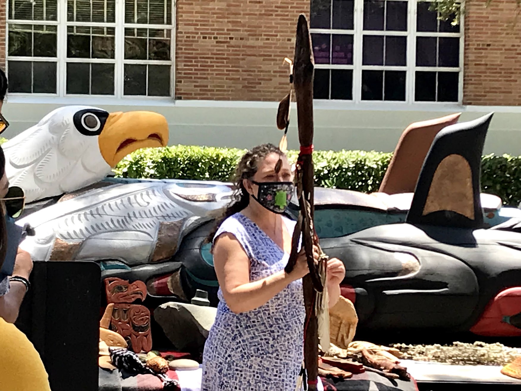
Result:
{"label": "woman in blue patterned dress and face mask holding a staff", "polygon": [[[213,240],[219,281],[215,323],[203,353],[202,391],[294,391],[304,353],[303,251],[284,271],[295,223],[281,213],[293,194],[291,166],[276,146],[247,152],[237,196]],[[315,253],[318,258],[318,253]],[[328,261],[329,306],[340,295],[343,263]]]}

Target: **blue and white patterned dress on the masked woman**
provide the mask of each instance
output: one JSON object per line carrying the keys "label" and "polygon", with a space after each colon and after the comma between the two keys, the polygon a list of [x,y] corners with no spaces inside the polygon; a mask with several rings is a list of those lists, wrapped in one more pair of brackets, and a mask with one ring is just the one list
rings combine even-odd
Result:
{"label": "blue and white patterned dress on the masked woman", "polygon": [[[290,236],[295,223],[283,217]],[[281,271],[289,254],[242,213],[215,234],[230,233],[250,258],[250,280]],[[215,240],[215,239],[214,239]],[[222,291],[203,353],[201,391],[294,391],[303,360],[302,280],[290,283],[263,306],[234,314]]]}

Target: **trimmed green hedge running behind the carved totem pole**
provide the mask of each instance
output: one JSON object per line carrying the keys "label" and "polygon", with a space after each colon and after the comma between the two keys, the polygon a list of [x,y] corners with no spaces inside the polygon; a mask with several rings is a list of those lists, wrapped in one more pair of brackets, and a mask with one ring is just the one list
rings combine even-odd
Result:
{"label": "trimmed green hedge running behind the carved totem pole", "polygon": [[[124,158],[115,169],[116,176],[125,178],[177,178],[228,181],[245,150],[168,146],[145,149]],[[317,186],[377,191],[386,172],[391,153],[365,151],[316,151],[315,182]],[[290,151],[291,161],[297,152]],[[521,156],[483,156],[481,186],[505,204],[517,206],[521,200]]]}

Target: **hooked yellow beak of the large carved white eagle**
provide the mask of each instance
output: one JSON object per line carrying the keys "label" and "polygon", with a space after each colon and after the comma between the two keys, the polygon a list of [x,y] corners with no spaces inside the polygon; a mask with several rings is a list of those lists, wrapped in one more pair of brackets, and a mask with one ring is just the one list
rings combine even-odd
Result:
{"label": "hooked yellow beak of the large carved white eagle", "polygon": [[105,162],[114,168],[129,153],[168,144],[166,118],[153,112],[110,113],[98,137]]}

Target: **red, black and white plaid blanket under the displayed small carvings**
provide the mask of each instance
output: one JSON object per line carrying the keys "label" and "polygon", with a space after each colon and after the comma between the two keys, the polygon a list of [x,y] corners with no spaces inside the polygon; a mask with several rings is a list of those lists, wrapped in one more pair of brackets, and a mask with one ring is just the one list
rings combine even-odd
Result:
{"label": "red, black and white plaid blanket under the displayed small carvings", "polygon": [[[202,369],[195,371],[168,371],[168,377],[179,380],[181,391],[201,391]],[[325,391],[418,391],[416,382],[389,380],[374,372],[353,375],[344,381],[321,378]],[[163,384],[153,375],[132,376],[120,371],[107,371],[100,368],[99,391],[156,391]],[[246,390],[244,390],[246,391]]]}

